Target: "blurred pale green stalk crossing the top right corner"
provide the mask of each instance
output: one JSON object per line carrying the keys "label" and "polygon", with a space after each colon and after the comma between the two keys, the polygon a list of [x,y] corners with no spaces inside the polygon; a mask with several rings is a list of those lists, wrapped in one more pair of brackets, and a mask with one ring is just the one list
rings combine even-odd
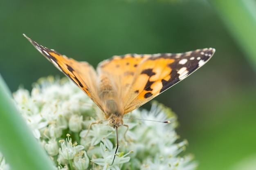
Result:
{"label": "blurred pale green stalk crossing the top right corner", "polygon": [[210,0],[256,71],[256,2]]}

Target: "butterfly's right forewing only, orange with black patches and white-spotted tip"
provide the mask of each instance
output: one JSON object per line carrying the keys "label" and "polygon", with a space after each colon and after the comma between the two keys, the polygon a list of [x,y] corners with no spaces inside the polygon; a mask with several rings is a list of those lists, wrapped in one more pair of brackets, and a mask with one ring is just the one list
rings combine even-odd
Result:
{"label": "butterfly's right forewing only, orange with black patches and white-spotted tip", "polygon": [[151,55],[137,66],[129,90],[123,96],[125,114],[150,101],[204,65],[215,49]]}

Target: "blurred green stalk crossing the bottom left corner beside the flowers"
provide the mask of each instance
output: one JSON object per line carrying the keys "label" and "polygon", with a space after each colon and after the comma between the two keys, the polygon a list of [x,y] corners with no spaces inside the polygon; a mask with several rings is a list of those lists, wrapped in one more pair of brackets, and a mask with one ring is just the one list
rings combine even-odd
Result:
{"label": "blurred green stalk crossing the bottom left corner beside the flowers", "polygon": [[0,152],[13,170],[53,170],[45,150],[32,135],[0,75]]}

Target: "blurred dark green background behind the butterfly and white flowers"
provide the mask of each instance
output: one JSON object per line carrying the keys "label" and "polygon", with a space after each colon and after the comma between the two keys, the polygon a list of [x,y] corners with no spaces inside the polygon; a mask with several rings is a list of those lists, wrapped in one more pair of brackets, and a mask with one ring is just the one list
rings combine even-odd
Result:
{"label": "blurred dark green background behind the butterfly and white flowers", "polygon": [[[186,153],[195,156],[199,170],[256,169],[256,43],[250,42],[256,41],[256,24],[240,23],[248,18],[239,18],[239,10],[231,13],[236,3],[219,2],[1,1],[0,73],[12,92],[20,85],[31,90],[40,77],[63,76],[22,33],[93,66],[112,55],[213,47],[205,66],[155,100],[178,115],[177,132],[189,141]],[[246,33],[250,38],[243,39]]]}

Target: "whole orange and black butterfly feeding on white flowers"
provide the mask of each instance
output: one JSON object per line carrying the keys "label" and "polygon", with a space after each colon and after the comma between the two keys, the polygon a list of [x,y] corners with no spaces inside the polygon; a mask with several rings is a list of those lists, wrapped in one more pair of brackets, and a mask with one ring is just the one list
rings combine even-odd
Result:
{"label": "whole orange and black butterfly feeding on white flowers", "polygon": [[68,58],[23,35],[99,106],[116,132],[124,125],[126,113],[188,77],[215,52],[213,48],[206,48],[186,53],[113,56],[100,62],[95,71],[88,62]]}

